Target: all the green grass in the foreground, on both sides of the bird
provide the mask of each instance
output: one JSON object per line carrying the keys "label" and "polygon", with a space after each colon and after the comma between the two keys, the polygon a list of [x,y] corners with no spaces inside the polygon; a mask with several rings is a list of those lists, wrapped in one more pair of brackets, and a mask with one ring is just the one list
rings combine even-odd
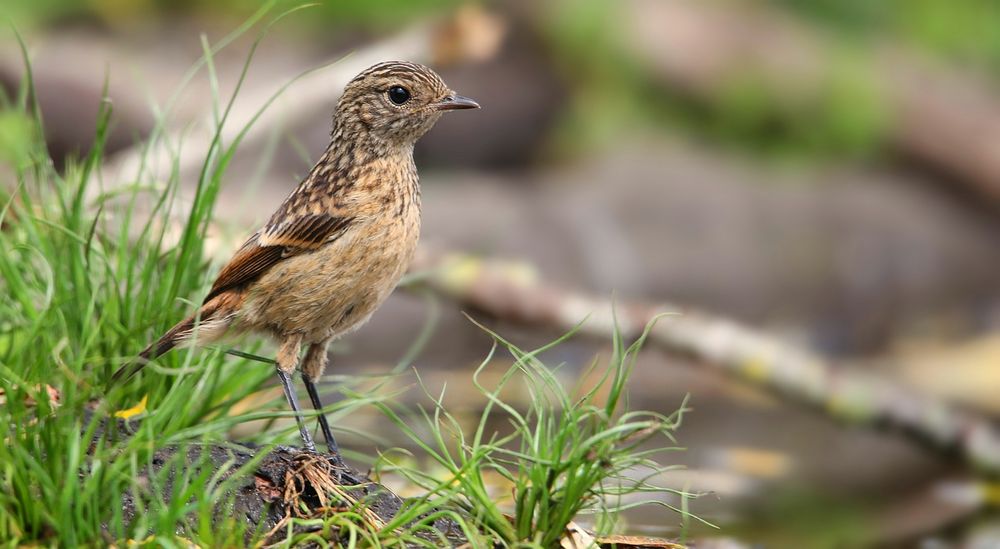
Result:
{"label": "all the green grass in the foreground, on both sides of the bird", "polygon": [[[206,42],[203,59],[185,82],[204,77],[214,83],[214,56],[240,34],[259,33],[256,48],[284,15],[271,17],[269,9],[218,43]],[[30,71],[27,56],[25,63]],[[262,419],[268,427],[243,442],[294,443],[291,422],[281,429],[274,423],[290,417],[280,397],[252,412],[238,407],[265,389],[271,368],[224,356],[220,349],[181,350],[105,392],[111,373],[188,313],[209,286],[206,230],[227,166],[252,129],[241,128],[232,143],[220,138],[239,86],[231,97],[213,97],[215,139],[204,151],[191,209],[178,216],[176,170],[158,180],[143,167],[125,186],[102,190],[109,183],[100,180],[112,114],[108,102],[102,104],[95,146],[57,171],[42,141],[30,72],[25,82],[0,106],[0,166],[9,167],[15,182],[0,191],[0,424],[8,426],[0,433],[0,540],[64,547],[120,545],[149,536],[163,546],[240,546],[247,535],[260,540],[263,532],[248,533],[237,517],[217,513],[255,463],[225,476],[226,468],[210,467],[207,455],[194,464],[181,456],[222,443],[238,424]],[[168,139],[169,115],[170,104],[145,150]],[[463,431],[439,398],[414,411],[392,404],[384,382],[364,393],[350,383],[342,389],[345,398],[328,411],[374,406],[447,474],[432,478],[401,466],[392,459],[398,452],[387,452],[379,471],[425,487],[424,497],[409,502],[384,528],[373,528],[357,510],[296,519],[286,545],[337,532],[353,540],[352,547],[433,547],[429,521],[450,516],[477,547],[551,547],[581,513],[596,513],[598,526],[608,530],[623,508],[647,499],[662,503],[665,491],[634,475],[663,469],[652,458],[673,446],[680,413],[627,409],[626,381],[641,341],[626,345],[614,336],[601,382],[566,389],[539,360],[544,349],[524,352],[491,335],[514,362],[496,387],[478,381],[484,369],[497,367],[492,354],[477,371],[488,404],[473,432]],[[527,410],[502,399],[513,379],[531,392]],[[58,403],[49,401],[49,388],[58,392]],[[107,419],[144,398],[147,410],[133,422],[132,437],[110,442],[98,436],[101,422],[92,418]],[[496,419],[508,427],[497,432]],[[154,467],[154,453],[167,447],[180,451]],[[511,483],[512,505],[490,496],[487,472]],[[124,500],[135,502],[134,516],[127,516]],[[291,530],[302,525],[318,530]]]}

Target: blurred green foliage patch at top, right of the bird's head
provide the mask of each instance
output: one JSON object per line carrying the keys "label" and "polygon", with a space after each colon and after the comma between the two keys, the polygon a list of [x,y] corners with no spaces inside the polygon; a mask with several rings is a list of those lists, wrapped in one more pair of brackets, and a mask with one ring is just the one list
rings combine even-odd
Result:
{"label": "blurred green foliage patch at top, right of the bird's head", "polygon": [[557,154],[681,128],[765,159],[867,157],[881,150],[889,109],[865,52],[845,46],[833,70],[799,95],[760,75],[731,74],[713,96],[693,99],[656,81],[623,45],[621,7],[609,0],[554,2],[543,32],[572,82],[555,136]]}

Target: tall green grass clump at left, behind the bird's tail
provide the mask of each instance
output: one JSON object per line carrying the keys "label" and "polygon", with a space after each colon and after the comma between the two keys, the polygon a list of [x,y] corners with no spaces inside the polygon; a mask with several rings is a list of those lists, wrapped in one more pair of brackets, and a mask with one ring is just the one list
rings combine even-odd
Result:
{"label": "tall green grass clump at left, behind the bird's tail", "polygon": [[[207,70],[214,78],[212,56],[267,9],[208,47],[192,75]],[[202,243],[239,144],[219,139],[236,92],[225,102],[215,98],[216,138],[204,151],[193,206],[177,216],[176,172],[155,180],[143,166],[130,183],[103,190],[107,101],[89,153],[56,170],[42,139],[30,68],[25,54],[24,84],[0,104],[0,119],[16,122],[7,131],[17,131],[0,141],[3,169],[13,179],[0,190],[0,425],[7,426],[0,433],[0,539],[67,547],[151,533],[242,539],[245,526],[223,528],[213,515],[232,485],[213,478],[214,469],[201,466],[204,458],[185,461],[180,451],[156,474],[149,473],[151,459],[165,446],[197,447],[225,439],[237,423],[281,415],[233,408],[261,390],[271,371],[223,361],[219,352],[178,352],[154,366],[157,375],[104,391],[111,372],[180,318],[188,297],[204,291]],[[165,139],[167,114],[147,150]],[[175,229],[176,242],[169,238]],[[191,372],[198,375],[180,375]],[[113,412],[143,400],[149,413],[127,442],[99,436]],[[131,510],[128,501],[135,503]]]}

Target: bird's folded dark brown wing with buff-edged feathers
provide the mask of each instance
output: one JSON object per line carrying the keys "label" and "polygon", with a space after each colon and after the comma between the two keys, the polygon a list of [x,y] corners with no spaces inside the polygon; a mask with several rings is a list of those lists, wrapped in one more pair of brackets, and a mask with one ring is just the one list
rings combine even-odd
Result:
{"label": "bird's folded dark brown wing with buff-edged feathers", "polygon": [[272,222],[254,233],[219,272],[205,303],[259,278],[282,259],[312,252],[339,238],[353,217],[306,214]]}

